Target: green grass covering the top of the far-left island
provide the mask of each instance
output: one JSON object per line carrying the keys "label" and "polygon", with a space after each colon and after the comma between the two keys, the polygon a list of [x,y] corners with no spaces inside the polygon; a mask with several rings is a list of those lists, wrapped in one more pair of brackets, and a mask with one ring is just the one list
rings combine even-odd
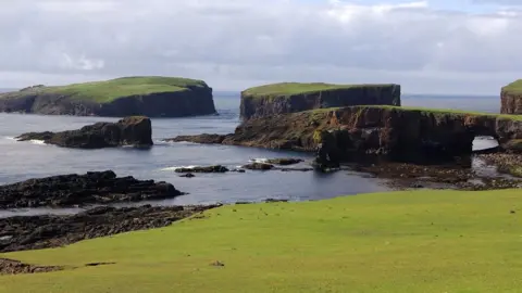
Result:
{"label": "green grass covering the top of the far-left island", "polygon": [[66,95],[71,99],[86,100],[98,103],[112,102],[129,95],[146,95],[158,92],[178,92],[188,87],[207,87],[201,80],[179,77],[123,77],[105,81],[74,84],[62,87],[40,87],[26,91],[5,94],[5,98],[18,98],[27,93],[50,93]]}

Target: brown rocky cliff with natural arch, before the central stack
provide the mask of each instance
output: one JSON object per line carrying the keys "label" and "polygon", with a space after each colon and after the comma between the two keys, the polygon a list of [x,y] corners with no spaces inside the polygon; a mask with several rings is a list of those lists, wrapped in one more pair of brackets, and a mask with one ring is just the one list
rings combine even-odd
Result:
{"label": "brown rocky cliff with natural arch, before the central stack", "polygon": [[[233,135],[179,137],[197,141],[296,151],[321,151],[332,161],[384,154],[399,161],[472,153],[475,136],[509,145],[522,139],[522,116],[396,106],[351,106],[246,120]],[[207,139],[207,140],[206,140]]]}

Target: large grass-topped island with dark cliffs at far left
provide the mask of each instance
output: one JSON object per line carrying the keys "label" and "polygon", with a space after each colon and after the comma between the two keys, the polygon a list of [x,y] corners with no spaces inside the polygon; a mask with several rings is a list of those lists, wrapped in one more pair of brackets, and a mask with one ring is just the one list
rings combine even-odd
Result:
{"label": "large grass-topped island with dark cliffs at far left", "polygon": [[182,117],[214,114],[212,88],[178,77],[123,77],[0,94],[0,112],[48,115]]}

